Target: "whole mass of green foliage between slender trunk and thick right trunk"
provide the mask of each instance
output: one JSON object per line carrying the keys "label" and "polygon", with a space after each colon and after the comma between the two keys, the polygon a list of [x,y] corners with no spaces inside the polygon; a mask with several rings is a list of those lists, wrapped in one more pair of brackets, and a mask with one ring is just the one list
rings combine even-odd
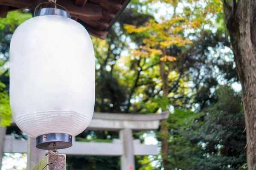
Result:
{"label": "whole mass of green foliage between slender trunk and thick right trunk", "polygon": [[[228,86],[201,113],[175,108],[170,114],[168,170],[244,170],[246,133],[241,94]],[[161,139],[161,132],[158,134]]]}

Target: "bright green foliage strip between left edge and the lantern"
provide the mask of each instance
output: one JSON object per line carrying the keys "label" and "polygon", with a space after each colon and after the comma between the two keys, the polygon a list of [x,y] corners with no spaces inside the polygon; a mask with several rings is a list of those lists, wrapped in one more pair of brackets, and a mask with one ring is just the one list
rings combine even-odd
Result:
{"label": "bright green foliage strip between left edge and the lantern", "polygon": [[9,126],[12,113],[9,103],[9,45],[15,28],[32,15],[26,11],[9,12],[6,18],[0,18],[0,126]]}

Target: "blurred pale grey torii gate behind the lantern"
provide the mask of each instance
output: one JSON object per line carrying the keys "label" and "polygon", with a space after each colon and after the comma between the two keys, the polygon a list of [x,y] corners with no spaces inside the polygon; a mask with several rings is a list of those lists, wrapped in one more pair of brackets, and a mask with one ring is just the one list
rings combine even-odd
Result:
{"label": "blurred pale grey torii gate behind the lantern", "polygon": [[[58,150],[60,154],[90,155],[90,156],[121,156],[121,170],[135,170],[134,156],[158,155],[157,145],[141,144],[134,140],[132,132],[158,129],[159,123],[169,117],[168,112],[160,114],[121,114],[121,113],[94,113],[87,130],[119,131],[119,139],[112,143],[105,142],[76,142],[73,146]],[[15,126],[15,124],[13,124]],[[0,165],[3,153],[28,153],[27,170],[33,167],[46,154],[44,150],[35,147],[35,139],[27,141],[15,139],[6,135],[6,128],[0,127]]]}

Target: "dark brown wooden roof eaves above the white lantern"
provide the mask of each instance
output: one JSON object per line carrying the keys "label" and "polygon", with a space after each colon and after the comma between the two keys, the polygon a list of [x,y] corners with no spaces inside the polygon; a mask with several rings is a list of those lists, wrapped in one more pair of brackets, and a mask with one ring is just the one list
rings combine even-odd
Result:
{"label": "dark brown wooden roof eaves above the white lantern", "polygon": [[[81,23],[90,35],[105,39],[109,29],[127,6],[130,0],[57,0],[67,8],[71,18]],[[48,0],[0,0],[0,17],[6,17],[8,11],[35,7]],[[52,8],[53,4],[44,4],[42,8]]]}

